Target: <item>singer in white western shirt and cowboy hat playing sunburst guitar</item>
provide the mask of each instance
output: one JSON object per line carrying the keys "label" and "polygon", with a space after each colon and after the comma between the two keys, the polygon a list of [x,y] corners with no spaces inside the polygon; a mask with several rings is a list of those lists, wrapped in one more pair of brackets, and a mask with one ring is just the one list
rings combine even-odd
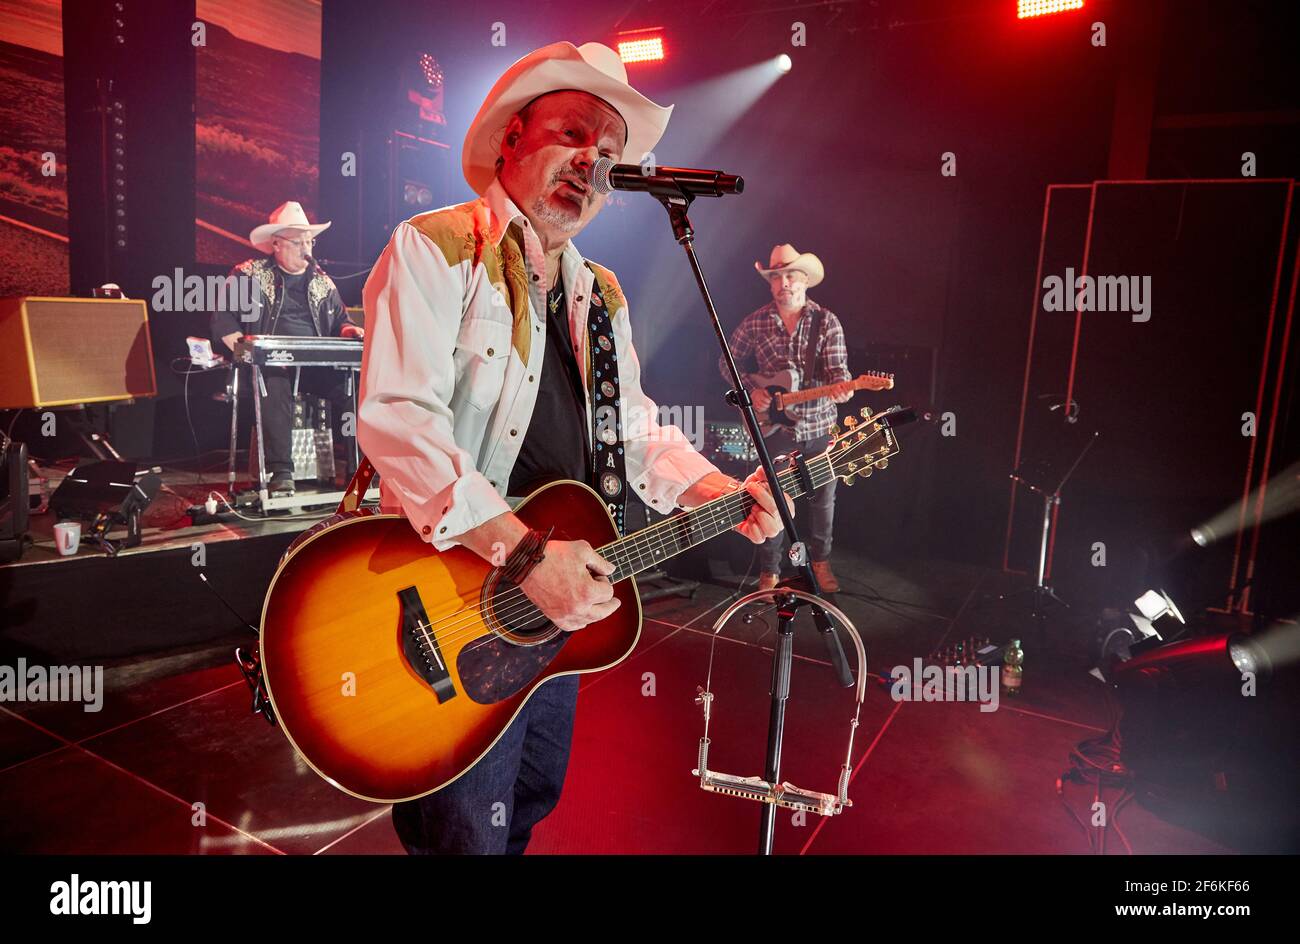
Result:
{"label": "singer in white western shirt and cowboy hat playing sunburst guitar", "polygon": [[[604,46],[529,53],[465,137],[480,198],[400,224],[365,283],[358,436],[384,510],[437,550],[462,545],[519,575],[566,631],[619,606],[615,566],[586,541],[530,531],[506,495],[578,480],[621,527],[628,494],[667,512],[744,488],[757,505],[737,531],[759,544],[781,529],[760,475],[738,482],[653,421],[619,283],[571,242],[604,204],[588,183],[595,160],[640,161],[671,112]],[[559,800],[577,688],[576,675],[545,683],[471,770],[394,805],[406,849],[523,852]]]}

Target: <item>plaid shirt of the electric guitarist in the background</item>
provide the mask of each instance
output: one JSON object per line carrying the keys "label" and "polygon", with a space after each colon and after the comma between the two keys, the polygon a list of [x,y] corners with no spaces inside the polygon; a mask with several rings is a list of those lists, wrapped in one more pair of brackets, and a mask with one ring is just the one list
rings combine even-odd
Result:
{"label": "plaid shirt of the electric guitarist in the background", "polygon": [[[816,341],[814,376],[803,377],[805,351],[807,351],[809,333],[812,329],[811,315],[816,311],[826,313],[822,319],[822,337]],[[793,371],[794,376],[800,378],[801,390],[853,380],[853,374],[849,373],[849,351],[844,343],[844,326],[840,324],[840,319],[812,299],[809,299],[807,304],[803,306],[794,334],[785,330],[785,322],[781,321],[776,303],[770,302],[736,326],[731,337],[731,347],[736,365],[742,373]],[[723,377],[731,380],[727,373],[727,361],[722,358],[718,359],[718,369],[722,371]],[[838,416],[836,403],[829,397],[819,397],[815,400],[801,403],[790,407],[788,412],[798,420],[793,430],[798,442],[831,432],[831,424]]]}

